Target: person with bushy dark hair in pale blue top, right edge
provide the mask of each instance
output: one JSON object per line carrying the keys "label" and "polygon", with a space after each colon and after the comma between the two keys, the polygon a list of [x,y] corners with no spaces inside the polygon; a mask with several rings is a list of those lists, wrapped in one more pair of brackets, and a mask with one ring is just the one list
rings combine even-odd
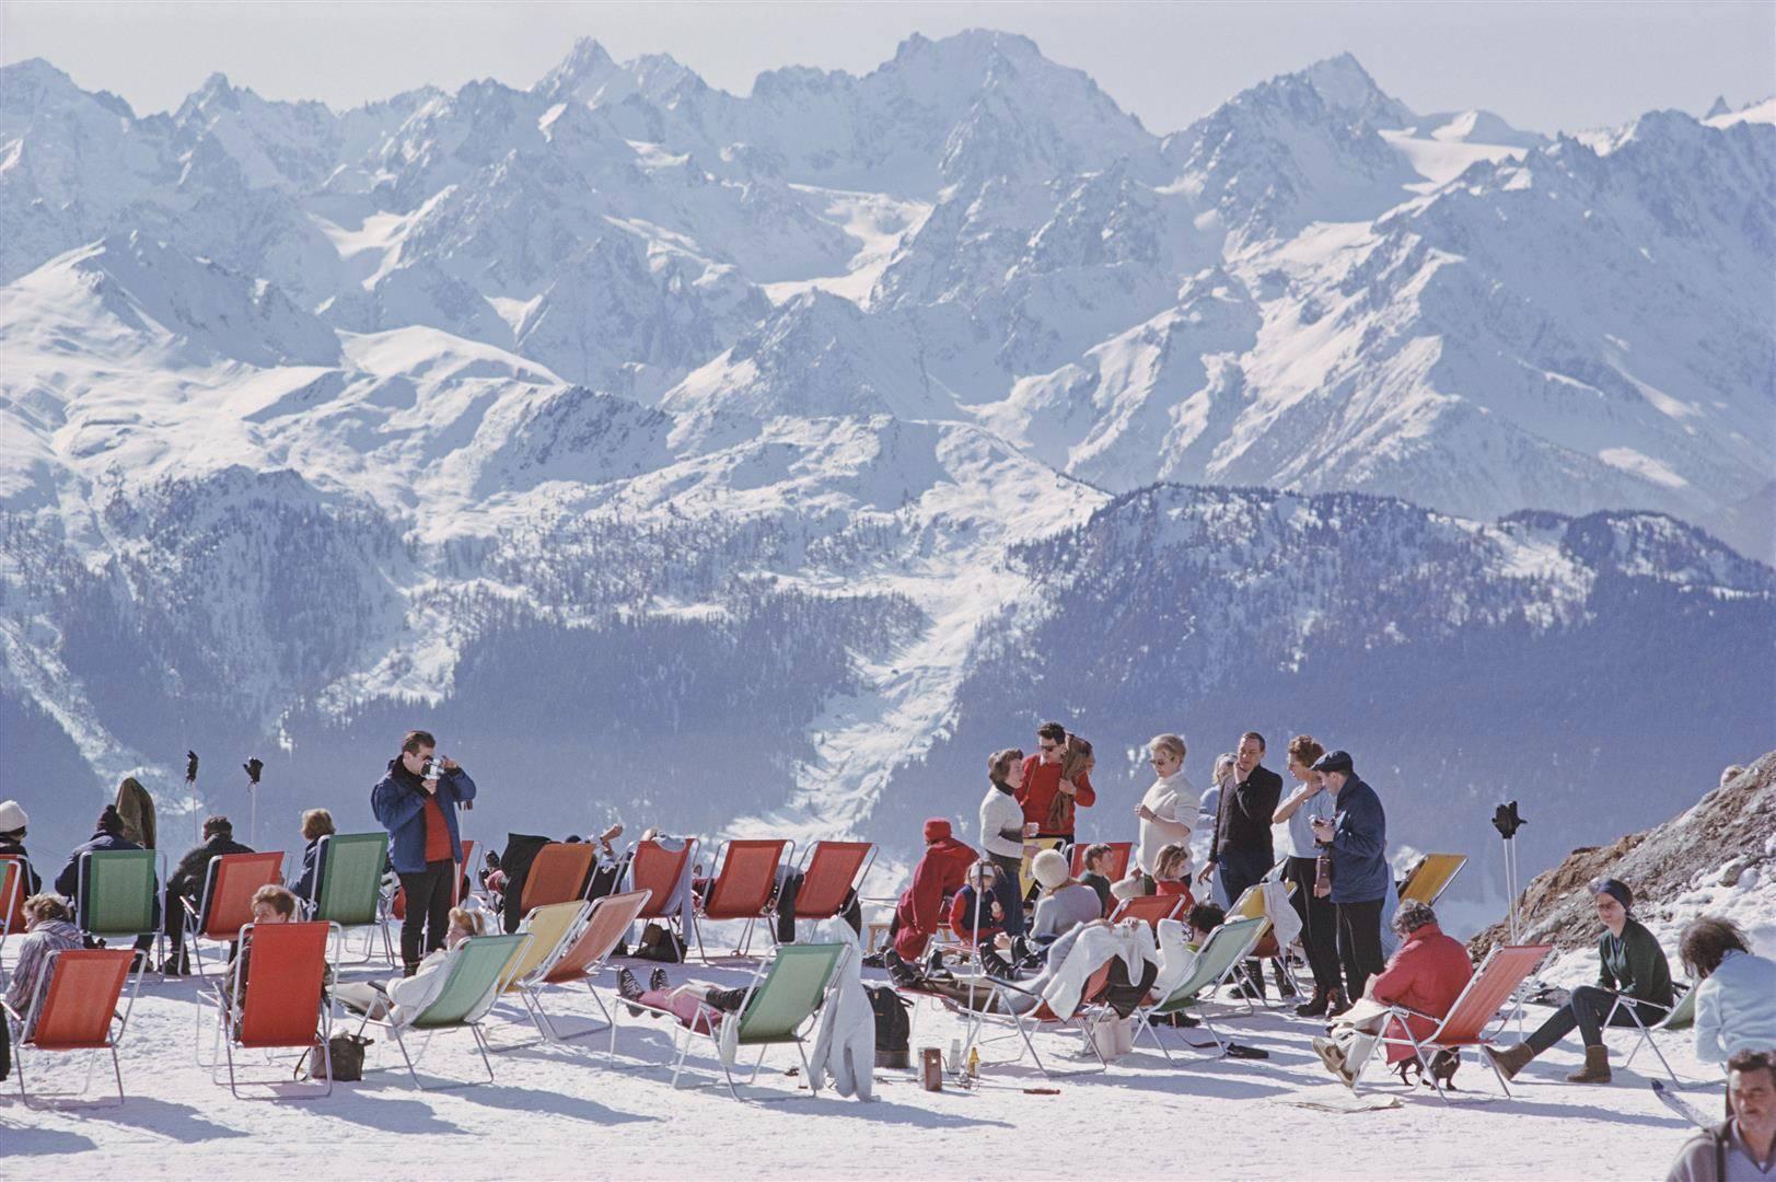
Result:
{"label": "person with bushy dark hair in pale blue top, right edge", "polygon": [[1696,978],[1696,1058],[1726,1063],[1740,1050],[1776,1050],[1776,960],[1753,956],[1746,933],[1698,915],[1678,938]]}

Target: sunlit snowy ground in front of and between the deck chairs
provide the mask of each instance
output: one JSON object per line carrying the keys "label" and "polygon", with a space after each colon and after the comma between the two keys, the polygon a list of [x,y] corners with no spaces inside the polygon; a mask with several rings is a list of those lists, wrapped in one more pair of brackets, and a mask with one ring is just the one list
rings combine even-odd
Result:
{"label": "sunlit snowy ground in front of and between the deck chairs", "polygon": [[[670,972],[675,983],[742,976],[702,965]],[[362,1084],[341,1084],[327,1100],[249,1102],[211,1084],[194,1061],[195,990],[192,981],[144,985],[123,1049],[126,1107],[39,1113],[20,1106],[14,1084],[0,1090],[0,1178],[1646,1178],[1662,1177],[1689,1136],[1648,1090],[1655,1063],[1645,1052],[1606,1088],[1561,1082],[1577,1063],[1563,1047],[1518,1077],[1513,1102],[1469,1061],[1458,1075],[1465,1095],[1449,1107],[1430,1091],[1387,1086],[1380,1072],[1368,1090],[1401,1095],[1399,1107],[1298,1107],[1289,1100],[1302,1093],[1343,1088],[1328,1084],[1309,1047],[1318,1027],[1280,1011],[1224,1024],[1234,1040],[1268,1050],[1268,1061],[1183,1052],[1170,1066],[1144,1043],[1101,1075],[1050,1084],[1028,1066],[987,1063],[977,1090],[941,1093],[922,1091],[909,1072],[877,1072],[872,1104],[805,1091],[792,1104],[735,1104],[714,1088],[673,1093],[666,1072],[636,1070],[664,1059],[666,1029],[627,1015],[616,1059],[627,1070],[602,1054],[531,1047],[494,1056],[497,1084],[421,1093],[378,1042]],[[561,997],[570,1013],[590,1010],[584,994]],[[915,1049],[948,1047],[961,1029],[929,1002],[915,1022]],[[513,1017],[492,1022],[490,1034],[513,1043],[533,1031]],[[1621,1050],[1625,1038],[1611,1034]],[[1076,1042],[1048,1034],[1037,1045],[1064,1061]],[[1687,1036],[1664,1036],[1661,1047],[1698,1082],[1698,1107],[1714,1113],[1719,1090],[1709,1081],[1717,1072],[1696,1063]],[[1009,1054],[1003,1043],[989,1050],[989,1059]],[[781,1074],[792,1063],[787,1050],[765,1063],[780,1070],[762,1075],[769,1091],[755,1095],[789,1095],[801,1082]],[[421,1066],[465,1074],[467,1036],[439,1038]],[[1043,1086],[1058,1095],[1027,1091]]]}

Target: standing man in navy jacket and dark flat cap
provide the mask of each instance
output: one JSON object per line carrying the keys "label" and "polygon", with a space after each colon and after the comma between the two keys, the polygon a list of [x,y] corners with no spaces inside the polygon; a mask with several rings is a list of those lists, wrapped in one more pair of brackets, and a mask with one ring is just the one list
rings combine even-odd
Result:
{"label": "standing man in navy jacket and dark flat cap", "polygon": [[1387,811],[1357,777],[1350,752],[1327,752],[1312,770],[1325,779],[1334,816],[1312,823],[1314,841],[1332,851],[1332,906],[1337,956],[1344,969],[1344,1006],[1362,997],[1369,978],[1387,965],[1382,905],[1387,901]]}

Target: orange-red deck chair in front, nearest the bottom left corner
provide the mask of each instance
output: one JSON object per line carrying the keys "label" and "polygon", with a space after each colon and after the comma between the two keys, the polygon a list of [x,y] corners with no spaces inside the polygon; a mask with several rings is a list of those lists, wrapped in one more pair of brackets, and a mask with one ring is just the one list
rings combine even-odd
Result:
{"label": "orange-red deck chair in front, nearest the bottom left corner", "polygon": [[[135,1008],[135,990],[142,986],[142,974],[133,974],[135,986],[121,1011],[117,1001],[131,978],[130,963],[133,960],[135,949],[128,947],[50,953],[44,963],[48,985],[37,990],[27,1013],[21,1015],[0,1001],[0,1008],[5,1010],[0,1020],[9,1022],[12,1029],[12,1070],[18,1072],[18,1095],[27,1107],[46,1107],[43,1100],[71,1100],[87,1095],[92,1086],[92,1063],[98,1061],[99,1050],[110,1050],[112,1075],[117,1079],[117,1106],[124,1104],[117,1043],[130,1026],[130,1011]],[[115,1031],[112,1022],[117,1024]],[[87,1050],[87,1074],[80,1091],[39,1091],[32,1097],[25,1086],[27,1050]]]}

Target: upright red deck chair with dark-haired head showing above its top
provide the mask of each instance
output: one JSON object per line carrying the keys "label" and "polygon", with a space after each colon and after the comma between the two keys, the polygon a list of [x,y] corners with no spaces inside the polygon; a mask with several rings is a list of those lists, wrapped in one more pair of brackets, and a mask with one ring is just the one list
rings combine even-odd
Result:
{"label": "upright red deck chair with dark-haired head showing above its top", "polygon": [[[252,857],[252,855],[242,855]],[[218,859],[220,860],[220,859]],[[250,921],[234,931],[234,938],[249,956],[247,988],[238,974],[231,974],[226,992],[213,995],[217,1006],[217,1040],[226,1050],[227,1086],[242,1098],[242,1086],[298,1086],[279,1070],[270,1079],[240,1079],[234,1068],[234,1050],[300,1050],[307,1058],[320,1050],[327,1065],[325,1081],[300,1084],[298,1093],[286,1098],[332,1095],[332,1038],[334,1004],[323,985],[327,979],[327,946],[334,924],[311,921],[297,924],[254,924]],[[229,1020],[229,1015],[238,1015]],[[217,1056],[224,1058],[224,1056]],[[302,1059],[298,1059],[300,1063]],[[220,1065],[211,1070],[218,1079]]]}

